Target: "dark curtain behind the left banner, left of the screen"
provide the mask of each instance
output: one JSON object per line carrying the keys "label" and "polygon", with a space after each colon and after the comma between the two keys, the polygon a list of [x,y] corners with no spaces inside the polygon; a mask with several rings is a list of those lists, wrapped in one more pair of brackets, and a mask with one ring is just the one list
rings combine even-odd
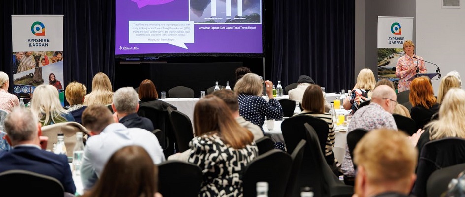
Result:
{"label": "dark curtain behind the left banner, left of the screen", "polygon": [[[114,82],[115,0],[3,0],[0,18],[1,71],[13,79],[11,15],[63,16],[64,85],[78,81],[91,90],[92,77],[104,72]],[[64,86],[64,87],[65,87]],[[10,85],[12,92],[13,85]]]}

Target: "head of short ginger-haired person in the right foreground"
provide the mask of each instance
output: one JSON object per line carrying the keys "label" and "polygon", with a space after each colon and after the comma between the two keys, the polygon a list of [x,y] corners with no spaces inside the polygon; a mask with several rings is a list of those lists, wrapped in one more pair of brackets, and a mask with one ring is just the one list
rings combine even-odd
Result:
{"label": "head of short ginger-haired person in the right foreground", "polygon": [[417,155],[403,132],[368,132],[354,150],[357,178],[353,197],[408,197],[416,179]]}

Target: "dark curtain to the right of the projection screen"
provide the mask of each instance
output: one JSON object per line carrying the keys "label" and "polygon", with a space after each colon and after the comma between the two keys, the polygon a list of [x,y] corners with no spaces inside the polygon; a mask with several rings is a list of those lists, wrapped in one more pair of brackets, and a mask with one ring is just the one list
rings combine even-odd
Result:
{"label": "dark curtain to the right of the projection screen", "polygon": [[355,0],[275,0],[271,79],[308,75],[327,92],[354,86]]}

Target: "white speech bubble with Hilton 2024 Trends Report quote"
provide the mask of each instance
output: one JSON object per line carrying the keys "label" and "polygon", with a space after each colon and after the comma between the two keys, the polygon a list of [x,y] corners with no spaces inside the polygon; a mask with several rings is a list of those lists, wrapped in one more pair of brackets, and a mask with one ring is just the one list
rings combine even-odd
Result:
{"label": "white speech bubble with Hilton 2024 Trends Report quote", "polygon": [[194,43],[194,21],[129,21],[129,43],[167,43],[188,49]]}

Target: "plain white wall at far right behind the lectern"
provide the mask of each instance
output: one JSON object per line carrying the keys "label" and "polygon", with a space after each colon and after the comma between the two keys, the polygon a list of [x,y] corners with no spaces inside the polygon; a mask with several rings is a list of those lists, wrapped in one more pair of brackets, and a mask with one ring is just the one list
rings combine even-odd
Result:
{"label": "plain white wall at far right behind the lectern", "polygon": [[[445,76],[457,70],[465,79],[465,5],[460,9],[441,8],[442,0],[416,0],[416,54],[436,63]],[[425,63],[428,72],[436,66]],[[437,94],[439,81],[432,81]],[[462,87],[465,87],[463,85]]]}

